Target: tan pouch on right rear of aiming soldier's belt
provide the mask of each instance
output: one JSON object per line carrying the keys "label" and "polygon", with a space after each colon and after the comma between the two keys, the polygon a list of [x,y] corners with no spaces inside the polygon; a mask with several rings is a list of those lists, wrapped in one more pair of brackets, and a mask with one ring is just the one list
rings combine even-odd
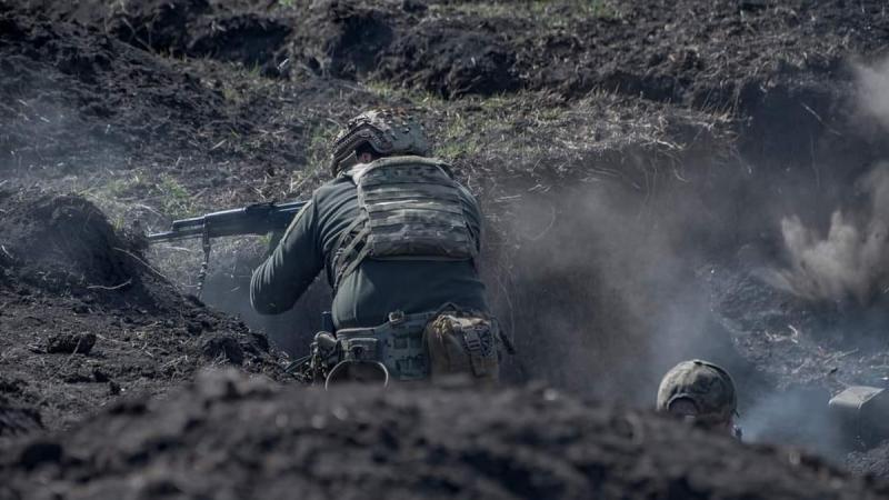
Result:
{"label": "tan pouch on right rear of aiming soldier's belt", "polygon": [[459,311],[439,314],[426,327],[423,343],[429,353],[430,377],[466,373],[497,381],[497,322]]}

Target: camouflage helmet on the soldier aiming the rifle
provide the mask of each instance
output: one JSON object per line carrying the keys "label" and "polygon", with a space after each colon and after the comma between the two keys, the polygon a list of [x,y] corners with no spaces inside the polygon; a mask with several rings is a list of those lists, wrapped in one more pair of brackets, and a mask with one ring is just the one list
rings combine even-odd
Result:
{"label": "camouflage helmet on the soldier aiming the rifle", "polygon": [[411,116],[401,110],[370,110],[349,120],[333,140],[330,171],[336,176],[354,163],[351,157],[363,144],[383,156],[429,153],[426,131]]}

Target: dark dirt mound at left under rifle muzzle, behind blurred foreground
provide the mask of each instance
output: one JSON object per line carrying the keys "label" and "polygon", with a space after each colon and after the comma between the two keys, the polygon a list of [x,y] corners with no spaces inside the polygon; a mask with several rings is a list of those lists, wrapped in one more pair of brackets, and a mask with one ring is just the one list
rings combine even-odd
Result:
{"label": "dark dirt mound at left under rifle muzzle, behind blurred foreground", "polygon": [[286,378],[263,334],[181,296],[92,203],[0,192],[0,212],[3,433],[166,392],[201,366]]}

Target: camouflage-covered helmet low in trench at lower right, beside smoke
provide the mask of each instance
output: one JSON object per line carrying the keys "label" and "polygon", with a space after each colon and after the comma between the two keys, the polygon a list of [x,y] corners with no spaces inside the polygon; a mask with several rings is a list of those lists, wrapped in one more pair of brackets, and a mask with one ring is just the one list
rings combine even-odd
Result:
{"label": "camouflage-covered helmet low in trench at lower right, beside smoke", "polygon": [[738,396],[735,381],[722,368],[699,359],[673,367],[658,388],[658,411],[670,411],[673,402],[690,401],[696,420],[728,422],[737,414]]}

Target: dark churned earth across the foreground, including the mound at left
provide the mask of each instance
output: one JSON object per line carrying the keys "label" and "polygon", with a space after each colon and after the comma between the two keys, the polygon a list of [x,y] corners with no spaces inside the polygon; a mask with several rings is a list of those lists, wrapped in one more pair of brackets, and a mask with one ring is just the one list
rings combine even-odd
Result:
{"label": "dark churned earth across the foreground, including the mound at left", "polygon": [[264,336],[176,292],[92,203],[0,200],[3,498],[889,493],[796,451],[542,386],[303,388]]}

